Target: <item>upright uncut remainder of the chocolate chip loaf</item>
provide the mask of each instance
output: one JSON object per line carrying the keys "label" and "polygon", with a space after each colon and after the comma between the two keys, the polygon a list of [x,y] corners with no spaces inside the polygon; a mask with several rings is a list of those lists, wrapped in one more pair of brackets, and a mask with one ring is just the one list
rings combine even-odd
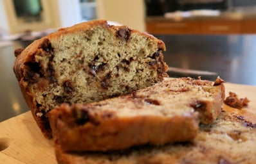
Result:
{"label": "upright uncut remainder of the chocolate chip loaf", "polygon": [[95,102],[151,86],[167,76],[165,44],[106,20],[59,29],[17,49],[14,72],[47,138],[46,113],[62,102]]}

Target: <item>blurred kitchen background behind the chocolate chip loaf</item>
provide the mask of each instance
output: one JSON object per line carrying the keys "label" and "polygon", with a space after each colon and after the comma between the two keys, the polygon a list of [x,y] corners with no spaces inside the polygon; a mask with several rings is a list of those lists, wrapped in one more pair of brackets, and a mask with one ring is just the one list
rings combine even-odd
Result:
{"label": "blurred kitchen background behind the chocolate chip loaf", "polygon": [[93,19],[163,40],[171,77],[256,86],[256,0],[0,0],[0,121],[28,111],[12,70],[14,49]]}

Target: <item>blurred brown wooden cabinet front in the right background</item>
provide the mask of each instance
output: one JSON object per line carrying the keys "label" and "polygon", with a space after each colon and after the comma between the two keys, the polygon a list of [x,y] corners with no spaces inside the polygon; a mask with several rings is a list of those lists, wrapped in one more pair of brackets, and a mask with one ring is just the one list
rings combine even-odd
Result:
{"label": "blurred brown wooden cabinet front in the right background", "polygon": [[251,34],[256,33],[255,17],[206,17],[183,20],[154,17],[146,19],[146,31],[152,34],[198,34],[198,35],[224,35],[224,34]]}

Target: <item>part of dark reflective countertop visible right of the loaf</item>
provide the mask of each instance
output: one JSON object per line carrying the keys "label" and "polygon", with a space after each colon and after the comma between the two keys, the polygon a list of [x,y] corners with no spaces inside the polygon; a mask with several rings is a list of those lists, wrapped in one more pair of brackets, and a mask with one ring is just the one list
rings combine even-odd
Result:
{"label": "part of dark reflective countertop visible right of the loaf", "polygon": [[165,42],[170,67],[207,70],[230,83],[256,85],[256,35],[155,36]]}

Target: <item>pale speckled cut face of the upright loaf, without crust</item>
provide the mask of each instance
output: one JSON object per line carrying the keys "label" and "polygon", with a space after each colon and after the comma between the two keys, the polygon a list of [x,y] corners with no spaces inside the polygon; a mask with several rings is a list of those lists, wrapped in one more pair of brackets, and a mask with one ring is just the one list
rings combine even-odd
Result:
{"label": "pale speckled cut face of the upright loaf, without crust", "polygon": [[48,111],[56,102],[99,101],[161,81],[164,69],[154,68],[164,65],[158,44],[124,30],[128,40],[118,38],[118,29],[102,26],[45,38],[42,53],[34,56],[38,73],[46,76],[32,84],[37,103]]}

